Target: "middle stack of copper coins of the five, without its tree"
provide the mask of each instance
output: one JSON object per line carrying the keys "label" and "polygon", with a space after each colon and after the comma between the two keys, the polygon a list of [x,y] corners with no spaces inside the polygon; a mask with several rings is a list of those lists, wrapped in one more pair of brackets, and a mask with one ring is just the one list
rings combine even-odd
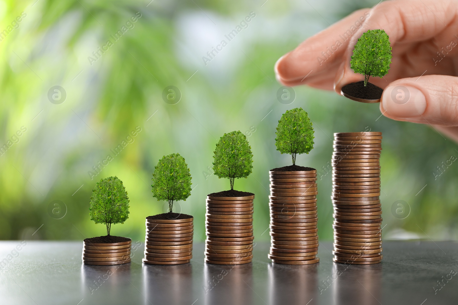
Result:
{"label": "middle stack of copper coins of the five, without its tree", "polygon": [[246,264],[253,258],[253,199],[207,196],[205,262]]}

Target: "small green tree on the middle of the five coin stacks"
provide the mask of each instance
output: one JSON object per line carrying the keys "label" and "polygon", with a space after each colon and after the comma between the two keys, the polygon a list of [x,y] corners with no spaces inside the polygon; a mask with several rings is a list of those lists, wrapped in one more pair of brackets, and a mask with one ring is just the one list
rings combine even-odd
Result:
{"label": "small green tree on the middle of the five coin stacks", "polygon": [[214,154],[214,174],[218,178],[229,178],[231,190],[234,189],[235,178],[246,178],[251,174],[253,168],[251,146],[240,130],[224,134],[216,144]]}

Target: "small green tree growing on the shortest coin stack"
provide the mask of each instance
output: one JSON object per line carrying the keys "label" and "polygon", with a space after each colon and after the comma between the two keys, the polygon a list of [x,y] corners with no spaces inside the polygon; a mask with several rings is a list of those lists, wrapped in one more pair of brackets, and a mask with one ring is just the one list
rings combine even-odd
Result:
{"label": "small green tree growing on the shortest coin stack", "polygon": [[96,224],[107,226],[110,235],[112,224],[123,224],[129,218],[129,197],[118,177],[108,177],[97,182],[92,191],[89,215]]}

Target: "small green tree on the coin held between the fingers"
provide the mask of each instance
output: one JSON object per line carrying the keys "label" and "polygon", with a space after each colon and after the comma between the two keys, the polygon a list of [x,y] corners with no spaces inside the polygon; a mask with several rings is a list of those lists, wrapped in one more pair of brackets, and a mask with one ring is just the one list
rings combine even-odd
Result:
{"label": "small green tree on the coin held between the fingers", "polygon": [[350,68],[364,75],[364,86],[369,76],[383,77],[388,73],[392,57],[388,38],[383,30],[369,30],[354,45]]}

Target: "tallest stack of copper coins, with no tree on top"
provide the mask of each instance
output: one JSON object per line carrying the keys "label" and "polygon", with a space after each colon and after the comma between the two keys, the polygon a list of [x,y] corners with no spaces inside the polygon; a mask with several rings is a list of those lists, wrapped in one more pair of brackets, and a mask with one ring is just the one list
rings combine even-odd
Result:
{"label": "tallest stack of copper coins, with no tree on top", "polygon": [[336,133],[333,144],[333,261],[379,263],[382,261],[382,133]]}

